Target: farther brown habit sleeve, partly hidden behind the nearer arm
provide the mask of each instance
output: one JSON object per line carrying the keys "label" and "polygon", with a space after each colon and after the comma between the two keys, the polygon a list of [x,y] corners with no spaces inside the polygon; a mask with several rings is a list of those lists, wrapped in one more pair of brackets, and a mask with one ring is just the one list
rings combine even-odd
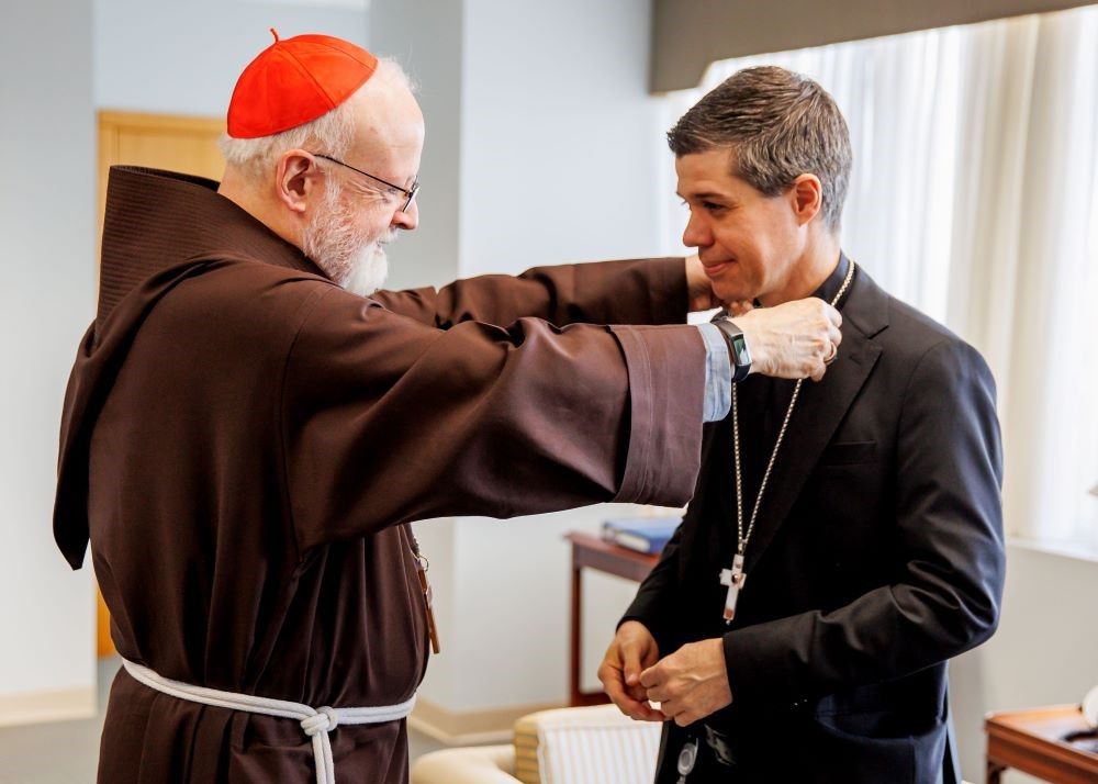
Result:
{"label": "farther brown habit sleeve, partly hidden behind the nearer arm", "polygon": [[467,321],[512,324],[683,324],[682,257],[536,267],[519,276],[484,275],[436,291],[380,291],[371,299],[423,324],[448,329]]}

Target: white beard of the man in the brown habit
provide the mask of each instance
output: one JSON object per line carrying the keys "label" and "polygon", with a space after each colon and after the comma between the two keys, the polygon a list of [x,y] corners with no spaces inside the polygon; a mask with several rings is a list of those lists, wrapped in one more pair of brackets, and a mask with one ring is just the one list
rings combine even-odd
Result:
{"label": "white beard of the man in the brown habit", "polygon": [[376,237],[356,235],[350,209],[340,202],[339,189],[328,186],[323,208],[302,236],[301,249],[336,284],[369,296],[385,282],[389,258],[384,246],[395,238],[392,228]]}

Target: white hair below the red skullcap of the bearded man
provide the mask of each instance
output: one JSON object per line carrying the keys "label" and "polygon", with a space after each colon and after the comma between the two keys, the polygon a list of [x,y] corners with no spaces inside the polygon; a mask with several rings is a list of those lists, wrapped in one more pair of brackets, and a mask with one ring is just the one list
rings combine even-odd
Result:
{"label": "white hair below the red skullcap of the bearded man", "polygon": [[[378,69],[370,81],[374,79],[414,90],[407,74],[393,59],[378,58]],[[289,131],[257,138],[233,138],[222,134],[217,146],[225,156],[225,163],[238,168],[251,181],[259,182],[273,171],[279,157],[288,149],[309,149],[343,158],[355,138],[355,107],[362,100],[362,92],[370,81],[332,111]]]}

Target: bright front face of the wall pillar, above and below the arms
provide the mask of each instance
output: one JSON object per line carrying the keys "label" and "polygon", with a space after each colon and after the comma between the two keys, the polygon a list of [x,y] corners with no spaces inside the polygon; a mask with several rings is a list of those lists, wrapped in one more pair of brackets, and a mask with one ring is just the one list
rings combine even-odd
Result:
{"label": "bright front face of the wall pillar, above and below the arms", "polygon": [[[464,7],[461,275],[653,255],[658,156],[670,154],[647,92],[648,3]],[[570,572],[561,537],[630,513],[603,506],[455,524],[459,657],[492,673],[458,680],[455,705],[565,701]],[[589,688],[635,590],[587,582]]]}

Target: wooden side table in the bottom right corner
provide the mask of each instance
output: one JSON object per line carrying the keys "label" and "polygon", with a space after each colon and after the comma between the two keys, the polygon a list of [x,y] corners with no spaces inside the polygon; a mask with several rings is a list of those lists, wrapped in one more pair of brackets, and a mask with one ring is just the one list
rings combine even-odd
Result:
{"label": "wooden side table in the bottom right corner", "polygon": [[1008,768],[1057,784],[1098,782],[1098,738],[1067,740],[1087,730],[1077,705],[988,714],[987,784]]}

